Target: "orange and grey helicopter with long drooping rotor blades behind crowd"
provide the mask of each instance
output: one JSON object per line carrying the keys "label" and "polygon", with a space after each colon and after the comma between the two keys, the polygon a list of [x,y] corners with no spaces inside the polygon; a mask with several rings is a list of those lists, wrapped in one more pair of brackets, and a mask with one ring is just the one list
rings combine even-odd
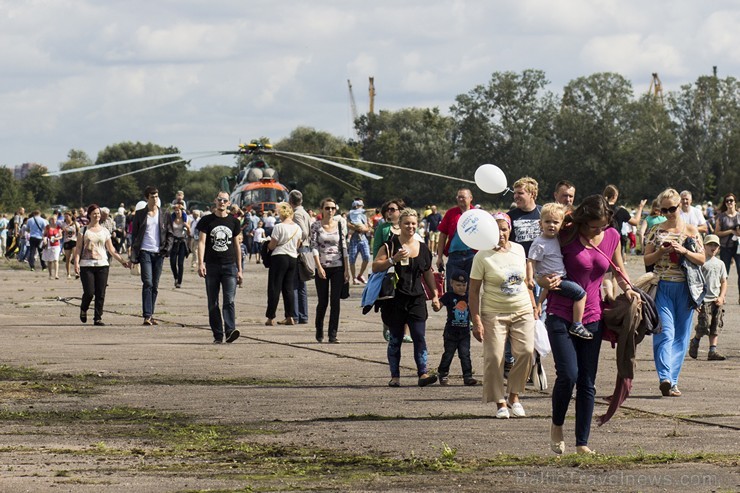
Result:
{"label": "orange and grey helicopter with long drooping rotor blades behind crowd", "polygon": [[[438,178],[444,178],[448,180],[461,181],[465,183],[475,183],[473,180],[466,180],[463,178],[455,178],[439,173],[433,173],[431,171],[418,170],[413,168],[407,168],[404,166],[398,166],[394,164],[378,163],[375,161],[367,161],[364,159],[354,159],[346,157],[336,156],[325,156],[321,154],[308,154],[300,152],[289,152],[283,150],[273,149],[271,144],[261,143],[258,141],[252,141],[250,143],[240,143],[236,150],[231,151],[201,151],[192,153],[177,153],[177,154],[164,154],[158,156],[147,156],[141,158],[126,159],[122,161],[113,161],[110,163],[96,164],[91,166],[84,166],[81,168],[68,169],[63,171],[49,172],[46,176],[60,176],[69,173],[79,173],[89,171],[93,169],[101,169],[112,166],[119,166],[123,164],[141,163],[147,161],[156,161],[162,159],[171,159],[164,163],[159,163],[146,168],[122,173],[116,176],[98,180],[95,184],[104,183],[107,181],[116,180],[123,176],[129,176],[136,173],[141,173],[151,169],[159,168],[162,166],[169,166],[175,163],[186,162],[190,163],[193,159],[204,159],[215,156],[225,155],[245,155],[250,156],[248,163],[239,170],[235,178],[235,185],[231,192],[231,202],[234,205],[239,206],[242,209],[255,210],[256,212],[264,213],[267,210],[274,210],[275,206],[280,202],[285,202],[288,199],[288,193],[290,190],[279,182],[278,172],[275,168],[270,166],[265,160],[266,156],[274,156],[291,161],[294,164],[300,165],[304,168],[311,169],[314,173],[321,176],[322,178],[334,182],[342,187],[348,188],[353,191],[360,191],[361,189],[356,185],[342,180],[341,178],[319,168],[316,164],[324,164],[334,168],[339,168],[345,171],[349,171],[355,174],[359,174],[365,178],[372,180],[380,180],[383,177],[363,169],[342,164],[334,161],[333,159],[340,159],[349,162],[363,163],[393,169],[399,169],[414,173],[420,173],[430,176],[436,176]],[[312,161],[313,163],[307,162]],[[224,177],[221,181],[221,188],[223,190],[229,190],[232,187],[229,185],[228,178]]]}

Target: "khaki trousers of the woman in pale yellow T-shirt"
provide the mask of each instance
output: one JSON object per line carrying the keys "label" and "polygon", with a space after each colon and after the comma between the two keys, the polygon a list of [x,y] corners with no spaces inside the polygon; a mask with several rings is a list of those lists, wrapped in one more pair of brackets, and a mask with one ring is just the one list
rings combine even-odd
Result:
{"label": "khaki trousers of the woman in pale yellow T-shirt", "polygon": [[527,308],[515,313],[481,313],[483,322],[483,402],[505,402],[504,344],[511,342],[516,358],[509,371],[508,391],[521,394],[532,369],[534,314]]}

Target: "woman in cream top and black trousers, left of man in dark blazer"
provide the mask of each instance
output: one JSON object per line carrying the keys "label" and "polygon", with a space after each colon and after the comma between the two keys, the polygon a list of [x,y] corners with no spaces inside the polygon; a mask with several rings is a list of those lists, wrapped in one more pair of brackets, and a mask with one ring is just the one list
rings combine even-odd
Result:
{"label": "woman in cream top and black trousers, left of man in dark blazer", "polygon": [[123,260],[113,248],[110,231],[100,224],[100,207],[92,204],[87,208],[89,223],[83,226],[77,236],[75,249],[75,273],[82,282],[82,302],[80,303],[80,321],[87,322],[87,310],[90,302],[95,298],[93,322],[95,325],[103,323],[103,305],[105,303],[105,288],[108,285],[108,255],[118,260],[126,268],[130,264]]}

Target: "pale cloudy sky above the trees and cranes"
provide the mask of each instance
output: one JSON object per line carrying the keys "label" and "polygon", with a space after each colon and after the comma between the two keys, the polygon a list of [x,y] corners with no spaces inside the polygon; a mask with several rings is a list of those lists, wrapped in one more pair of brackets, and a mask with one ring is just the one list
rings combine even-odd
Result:
{"label": "pale cloudy sky above the trees and cranes", "polygon": [[[493,72],[561,92],[617,72],[664,92],[740,77],[740,0],[0,0],[0,165],[50,170],[123,141],[235,149],[298,126],[438,107]],[[232,157],[203,164],[232,164]],[[194,162],[194,167],[198,167]]]}

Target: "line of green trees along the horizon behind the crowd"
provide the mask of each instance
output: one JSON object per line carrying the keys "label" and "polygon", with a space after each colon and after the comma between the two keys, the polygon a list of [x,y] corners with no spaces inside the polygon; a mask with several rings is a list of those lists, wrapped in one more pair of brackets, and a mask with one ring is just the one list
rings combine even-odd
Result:
{"label": "line of green trees along the horizon behind the crowd", "polygon": [[[617,184],[622,200],[654,198],[671,186],[689,189],[696,201],[717,200],[740,185],[740,85],[733,77],[700,76],[661,100],[636,95],[630,81],[615,73],[595,73],[570,81],[556,94],[540,70],[494,72],[486,84],[458,95],[445,115],[438,108],[407,108],[365,114],[355,121],[356,139],[344,139],[308,127],[296,128],[275,143],[276,149],[394,164],[472,180],[483,163],[499,166],[510,183],[522,176],[539,181],[541,196],[555,183],[573,182],[578,195],[600,193]],[[269,141],[264,137],[262,142]],[[177,148],[123,142],[106,147],[95,164],[136,157],[172,154]],[[82,151],[71,150],[61,169],[93,164]],[[44,177],[32,170],[24,180],[0,167],[0,210],[33,203],[78,206],[91,202],[130,204],[146,184],[164,196],[184,190],[186,197],[210,200],[222,178],[233,179],[244,157],[233,167],[189,170],[186,163],[157,167],[164,161],[133,163],[84,173]],[[402,170],[358,165],[383,175],[373,181],[318,165],[356,185],[349,190],[309,169],[280,159],[269,160],[289,188],[303,191],[309,204],[325,196],[341,203],[362,196],[379,204],[401,197],[414,206],[451,201],[461,182]],[[354,164],[353,164],[354,165]],[[113,181],[114,175],[130,174]],[[10,178],[8,178],[10,177]],[[96,183],[100,182],[100,183]],[[232,182],[233,183],[233,182]],[[471,185],[476,201],[495,204],[509,197],[486,195]]]}

